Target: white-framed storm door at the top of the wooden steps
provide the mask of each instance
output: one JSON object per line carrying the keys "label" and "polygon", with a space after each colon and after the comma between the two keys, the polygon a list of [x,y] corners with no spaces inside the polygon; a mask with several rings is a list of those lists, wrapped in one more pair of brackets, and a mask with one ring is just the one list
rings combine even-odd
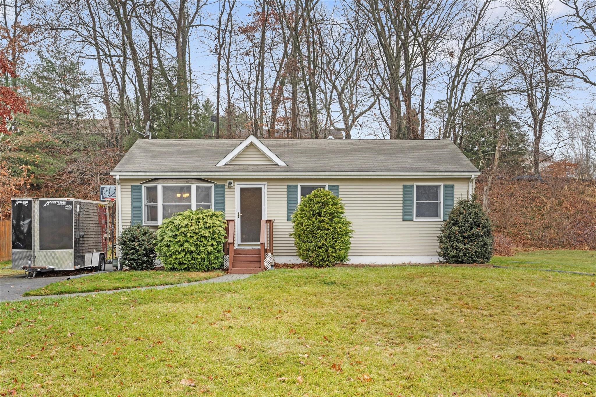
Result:
{"label": "white-framed storm door at the top of the wooden steps", "polygon": [[263,202],[265,189],[262,185],[237,185],[237,239],[238,244],[259,245],[260,221],[265,219]]}

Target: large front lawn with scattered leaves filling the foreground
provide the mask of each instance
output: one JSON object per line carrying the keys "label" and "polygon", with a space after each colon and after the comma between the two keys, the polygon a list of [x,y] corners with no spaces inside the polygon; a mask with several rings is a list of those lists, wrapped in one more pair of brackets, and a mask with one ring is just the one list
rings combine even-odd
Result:
{"label": "large front lawn with scattered leaves filling the foreground", "polygon": [[303,268],[11,302],[0,309],[0,393],[592,395],[595,280]]}

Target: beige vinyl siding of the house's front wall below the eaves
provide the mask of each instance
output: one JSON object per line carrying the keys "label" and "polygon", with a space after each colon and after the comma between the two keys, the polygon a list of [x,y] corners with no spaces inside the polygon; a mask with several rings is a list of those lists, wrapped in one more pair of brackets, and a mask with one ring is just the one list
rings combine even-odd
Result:
{"label": "beige vinyl siding of the house's front wall below the eaves", "polygon": [[[120,179],[122,223],[131,223],[130,185],[145,179]],[[216,183],[226,180],[212,179]],[[402,221],[402,185],[455,185],[455,202],[468,196],[469,179],[234,179],[225,189],[226,219],[234,219],[237,183],[267,184],[267,218],[274,219],[274,255],[296,255],[286,220],[287,185],[339,185],[339,195],[352,221],[350,255],[436,255],[442,221]]]}

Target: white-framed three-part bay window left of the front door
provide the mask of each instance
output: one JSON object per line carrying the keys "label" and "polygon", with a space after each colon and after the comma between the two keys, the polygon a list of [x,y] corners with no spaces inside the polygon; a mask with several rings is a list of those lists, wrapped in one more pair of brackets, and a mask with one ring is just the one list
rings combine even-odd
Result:
{"label": "white-framed three-part bay window left of the front door", "polygon": [[159,225],[176,212],[213,208],[213,185],[147,185],[143,190],[143,224]]}

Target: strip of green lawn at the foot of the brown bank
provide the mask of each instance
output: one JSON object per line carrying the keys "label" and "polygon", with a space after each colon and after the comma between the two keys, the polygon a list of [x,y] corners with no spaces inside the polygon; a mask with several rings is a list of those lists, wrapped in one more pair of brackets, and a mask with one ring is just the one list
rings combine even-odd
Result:
{"label": "strip of green lawn at the foot of the brown bank", "polygon": [[551,249],[518,252],[513,257],[493,257],[493,265],[554,269],[596,273],[596,251],[572,251]]}

